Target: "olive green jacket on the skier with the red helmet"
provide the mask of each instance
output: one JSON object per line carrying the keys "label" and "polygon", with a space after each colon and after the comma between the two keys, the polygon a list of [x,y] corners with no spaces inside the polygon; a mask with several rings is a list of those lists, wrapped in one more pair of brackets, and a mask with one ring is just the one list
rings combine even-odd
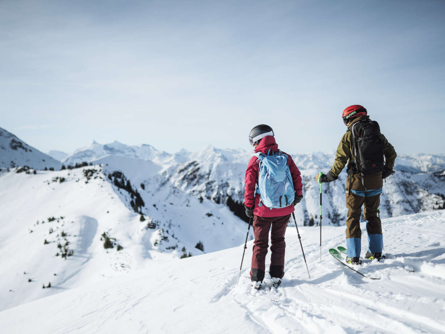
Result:
{"label": "olive green jacket on the skier with the red helmet", "polygon": [[[351,124],[349,124],[348,129],[354,124],[355,122],[359,122],[364,119],[369,119],[369,116],[360,116],[354,119]],[[383,140],[383,153],[385,157],[385,166],[392,170],[394,167],[394,161],[396,160],[397,153],[394,150],[394,147],[390,143],[388,143],[388,140],[385,138],[383,134],[380,134],[380,137]],[[346,131],[346,133],[343,135],[343,137],[340,140],[340,144],[338,144],[337,147],[337,155],[335,158],[335,162],[332,165],[330,174],[334,179],[338,178],[338,175],[340,175],[340,172],[343,170],[344,166],[346,166],[346,163],[348,163],[348,170],[350,165],[354,164],[355,161],[353,160],[353,142],[352,142],[352,132]]]}

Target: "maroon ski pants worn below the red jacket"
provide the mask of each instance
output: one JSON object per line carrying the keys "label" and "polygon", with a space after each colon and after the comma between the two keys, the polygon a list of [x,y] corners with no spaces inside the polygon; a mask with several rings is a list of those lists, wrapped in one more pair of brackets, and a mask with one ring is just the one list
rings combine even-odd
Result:
{"label": "maroon ski pants worn below the red jacket", "polygon": [[271,277],[282,278],[284,276],[284,233],[286,233],[287,222],[291,215],[280,217],[260,217],[253,218],[253,233],[255,242],[253,243],[251,280],[263,281],[266,270],[266,254],[269,247],[269,230],[271,232],[271,266],[269,274]]}

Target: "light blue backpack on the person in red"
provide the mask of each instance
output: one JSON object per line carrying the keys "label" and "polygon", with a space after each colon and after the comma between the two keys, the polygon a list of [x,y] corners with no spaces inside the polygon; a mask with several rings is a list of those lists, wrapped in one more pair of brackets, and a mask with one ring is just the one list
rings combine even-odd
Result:
{"label": "light blue backpack on the person in red", "polygon": [[294,185],[292,175],[287,164],[287,155],[281,151],[273,155],[261,153],[258,158],[258,189],[259,206],[263,204],[268,208],[285,208],[294,202]]}

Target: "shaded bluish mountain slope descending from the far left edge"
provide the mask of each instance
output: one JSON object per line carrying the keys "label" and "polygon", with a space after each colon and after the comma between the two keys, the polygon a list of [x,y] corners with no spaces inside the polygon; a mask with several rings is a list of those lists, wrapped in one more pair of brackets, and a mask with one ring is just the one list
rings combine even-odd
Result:
{"label": "shaded bluish mountain slope descending from the far left edge", "polygon": [[28,166],[41,170],[53,167],[58,170],[61,165],[59,161],[29,146],[0,127],[0,169]]}

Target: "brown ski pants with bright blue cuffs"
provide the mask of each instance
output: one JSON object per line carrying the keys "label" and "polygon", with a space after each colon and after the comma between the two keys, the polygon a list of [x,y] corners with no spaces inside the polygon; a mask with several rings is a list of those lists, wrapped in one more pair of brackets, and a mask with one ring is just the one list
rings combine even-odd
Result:
{"label": "brown ski pants with bright blue cuffs", "polygon": [[[363,180],[362,180],[363,178]],[[346,220],[346,248],[348,257],[360,257],[361,207],[364,205],[364,219],[368,232],[368,250],[371,253],[381,253],[383,248],[382,224],[377,216],[382,192],[382,173],[369,175],[348,175],[346,181],[346,207],[348,219]]]}

